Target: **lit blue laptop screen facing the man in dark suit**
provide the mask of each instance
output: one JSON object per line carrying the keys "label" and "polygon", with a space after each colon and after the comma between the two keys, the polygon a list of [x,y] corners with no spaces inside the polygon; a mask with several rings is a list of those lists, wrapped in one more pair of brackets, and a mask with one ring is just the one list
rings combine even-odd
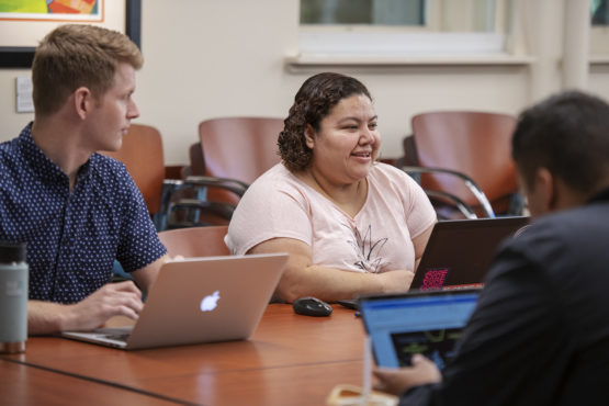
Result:
{"label": "lit blue laptop screen facing the man in dark suit", "polygon": [[360,298],[360,311],[380,366],[408,365],[422,353],[442,369],[472,315],[478,289],[409,292]]}

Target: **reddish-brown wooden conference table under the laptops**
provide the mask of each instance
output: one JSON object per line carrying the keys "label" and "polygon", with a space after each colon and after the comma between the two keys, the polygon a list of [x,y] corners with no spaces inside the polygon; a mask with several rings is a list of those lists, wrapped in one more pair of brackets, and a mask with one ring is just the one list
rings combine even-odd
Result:
{"label": "reddish-brown wooden conference table under the laptops", "polygon": [[246,341],[123,351],[31,337],[0,356],[7,405],[324,405],[338,384],[362,384],[364,331],[353,311],[330,317],[268,306]]}

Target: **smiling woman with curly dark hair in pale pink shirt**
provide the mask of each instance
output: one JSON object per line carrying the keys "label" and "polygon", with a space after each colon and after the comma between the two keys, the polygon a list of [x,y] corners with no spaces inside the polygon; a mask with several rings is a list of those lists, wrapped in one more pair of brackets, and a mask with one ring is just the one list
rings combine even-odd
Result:
{"label": "smiling woman with curly dark hair in pale pink shirt", "polygon": [[436,212],[409,176],[375,161],[376,122],[354,78],[315,75],[296,93],[282,162],[250,185],[226,236],[236,255],[290,253],[282,300],[408,290]]}

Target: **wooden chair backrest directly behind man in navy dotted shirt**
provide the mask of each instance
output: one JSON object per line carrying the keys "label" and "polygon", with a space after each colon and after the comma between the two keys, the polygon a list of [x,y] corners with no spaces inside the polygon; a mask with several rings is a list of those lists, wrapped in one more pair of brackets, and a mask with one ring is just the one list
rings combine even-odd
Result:
{"label": "wooden chair backrest directly behind man in navy dotted shirt", "polygon": [[123,162],[139,188],[148,212],[159,211],[165,179],[162,142],[157,128],[144,124],[132,124],[123,136],[117,151],[103,151]]}

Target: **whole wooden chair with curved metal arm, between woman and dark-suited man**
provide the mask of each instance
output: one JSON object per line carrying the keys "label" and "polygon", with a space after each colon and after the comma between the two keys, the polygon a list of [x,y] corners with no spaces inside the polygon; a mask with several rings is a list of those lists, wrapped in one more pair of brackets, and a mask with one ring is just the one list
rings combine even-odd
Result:
{"label": "whole wooden chair with curved metal arm, between woman and dark-suited man", "polygon": [[413,136],[404,146],[415,162],[403,169],[420,174],[440,218],[521,214],[510,153],[515,116],[441,111],[417,114],[411,122]]}

